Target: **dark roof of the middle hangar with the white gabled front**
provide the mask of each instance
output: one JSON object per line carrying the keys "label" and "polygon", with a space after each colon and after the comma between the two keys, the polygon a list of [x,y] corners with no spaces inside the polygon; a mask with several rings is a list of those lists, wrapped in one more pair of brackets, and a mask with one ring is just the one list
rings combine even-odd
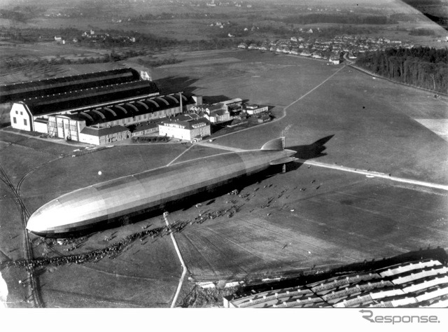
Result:
{"label": "dark roof of the middle hangar with the white gabled front", "polygon": [[94,107],[97,104],[116,102],[130,97],[143,97],[158,92],[157,85],[151,81],[133,81],[29,98],[24,99],[23,103],[28,106],[33,116],[43,116],[80,107]]}

